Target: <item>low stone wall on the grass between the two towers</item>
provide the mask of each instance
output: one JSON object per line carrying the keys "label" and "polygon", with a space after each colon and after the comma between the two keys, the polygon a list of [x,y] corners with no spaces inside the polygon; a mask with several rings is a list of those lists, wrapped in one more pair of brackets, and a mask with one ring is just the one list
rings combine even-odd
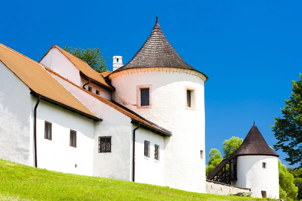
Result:
{"label": "low stone wall on the grass between the two towers", "polygon": [[235,185],[219,183],[211,180],[206,180],[205,186],[206,186],[206,193],[209,194],[228,195],[228,194],[236,194],[239,192],[251,191],[250,188],[242,188]]}

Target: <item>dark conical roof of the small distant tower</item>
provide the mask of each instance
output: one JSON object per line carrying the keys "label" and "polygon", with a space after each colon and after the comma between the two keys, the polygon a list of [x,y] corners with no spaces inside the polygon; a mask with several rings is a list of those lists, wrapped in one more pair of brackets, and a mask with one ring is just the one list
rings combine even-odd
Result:
{"label": "dark conical roof of the small distant tower", "polygon": [[268,146],[255,123],[241,146],[231,156],[240,155],[279,156],[272,148]]}

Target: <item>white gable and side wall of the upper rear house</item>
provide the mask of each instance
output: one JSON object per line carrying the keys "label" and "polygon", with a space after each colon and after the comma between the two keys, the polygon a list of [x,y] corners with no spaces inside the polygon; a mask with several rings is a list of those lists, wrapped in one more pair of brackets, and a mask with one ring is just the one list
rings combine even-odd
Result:
{"label": "white gable and side wall of the upper rear house", "polygon": [[[88,80],[85,80],[80,76],[80,70],[75,67],[73,63],[70,62],[69,59],[65,57],[57,48],[52,48],[47,55],[44,56],[40,63],[81,87],[88,82]],[[111,99],[110,91],[107,91],[106,89],[93,83],[90,83],[89,85],[93,87],[94,93],[97,89],[100,91],[101,96]],[[86,89],[88,90],[88,85],[86,85]]]}

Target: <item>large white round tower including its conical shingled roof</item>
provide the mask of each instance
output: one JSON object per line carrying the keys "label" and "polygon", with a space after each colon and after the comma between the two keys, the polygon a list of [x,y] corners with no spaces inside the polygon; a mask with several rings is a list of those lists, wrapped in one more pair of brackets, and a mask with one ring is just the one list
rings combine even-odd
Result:
{"label": "large white round tower including its conical shingled roof", "polygon": [[108,76],[112,98],[172,132],[165,137],[164,185],[205,192],[204,82],[166,39],[158,23],[124,66]]}

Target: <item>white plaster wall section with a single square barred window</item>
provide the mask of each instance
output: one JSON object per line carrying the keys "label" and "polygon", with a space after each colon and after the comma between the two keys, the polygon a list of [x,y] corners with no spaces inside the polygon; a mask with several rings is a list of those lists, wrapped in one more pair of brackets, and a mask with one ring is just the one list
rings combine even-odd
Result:
{"label": "white plaster wall section with a single square barred window", "polygon": [[[130,181],[132,174],[131,119],[69,82],[51,75],[77,96],[94,114],[103,119],[95,123],[93,175]],[[100,136],[112,136],[112,152],[99,153]]]}

